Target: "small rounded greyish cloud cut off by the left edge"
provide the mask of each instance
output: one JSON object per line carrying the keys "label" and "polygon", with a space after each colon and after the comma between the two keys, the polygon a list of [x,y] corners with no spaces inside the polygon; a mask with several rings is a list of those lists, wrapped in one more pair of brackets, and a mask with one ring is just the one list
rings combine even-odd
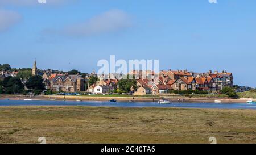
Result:
{"label": "small rounded greyish cloud cut off by the left edge", "polygon": [[21,15],[14,11],[0,9],[0,32],[8,30],[11,26],[18,23]]}

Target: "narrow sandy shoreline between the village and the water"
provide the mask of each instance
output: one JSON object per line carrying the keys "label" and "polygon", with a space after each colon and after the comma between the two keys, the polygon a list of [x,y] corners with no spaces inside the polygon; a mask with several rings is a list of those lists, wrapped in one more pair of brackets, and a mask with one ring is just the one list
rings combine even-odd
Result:
{"label": "narrow sandy shoreline between the village and the water", "polygon": [[[63,95],[39,95],[35,97],[30,97],[29,95],[0,95],[0,100],[23,100],[23,99],[32,99],[32,100],[67,100],[67,101],[75,101],[77,99],[81,101],[108,101],[111,99],[115,99],[118,102],[157,102],[160,99],[167,99],[172,102],[192,102],[192,103],[214,103],[215,100],[220,100],[221,103],[246,103],[247,100],[251,98],[239,98],[239,99],[228,99],[228,98],[206,98],[206,97],[196,97],[196,98],[188,98],[181,96],[167,96],[167,97],[88,97],[88,96],[63,96]],[[252,99],[256,100],[256,99]]]}

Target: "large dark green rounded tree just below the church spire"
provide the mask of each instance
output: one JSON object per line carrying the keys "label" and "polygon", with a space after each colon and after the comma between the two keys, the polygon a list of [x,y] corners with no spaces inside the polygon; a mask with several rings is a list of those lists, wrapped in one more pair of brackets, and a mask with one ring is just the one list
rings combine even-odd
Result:
{"label": "large dark green rounded tree just below the church spire", "polygon": [[28,89],[44,90],[43,79],[41,76],[32,76],[28,79],[26,86]]}

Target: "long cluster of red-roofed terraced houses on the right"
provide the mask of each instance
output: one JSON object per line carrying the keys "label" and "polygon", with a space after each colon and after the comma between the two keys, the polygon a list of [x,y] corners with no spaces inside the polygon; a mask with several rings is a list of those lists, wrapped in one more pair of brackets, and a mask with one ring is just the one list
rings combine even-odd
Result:
{"label": "long cluster of red-roofed terraced houses on the right", "polygon": [[[167,93],[168,90],[201,90],[216,92],[223,87],[233,87],[233,74],[223,71],[212,73],[194,73],[187,70],[168,70],[160,71],[158,77],[154,79],[143,79],[140,72],[131,72],[141,79],[137,79],[138,91],[143,90],[141,87],[151,87],[153,95]],[[130,74],[131,74],[130,73]],[[142,94],[142,93],[135,93]]]}

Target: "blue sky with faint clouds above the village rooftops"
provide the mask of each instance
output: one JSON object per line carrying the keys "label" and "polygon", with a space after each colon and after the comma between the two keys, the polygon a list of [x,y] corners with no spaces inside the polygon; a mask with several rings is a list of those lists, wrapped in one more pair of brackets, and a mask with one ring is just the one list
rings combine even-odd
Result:
{"label": "blue sky with faint clouds above the village rooftops", "polygon": [[100,59],[160,69],[227,70],[256,87],[256,1],[1,0],[0,64],[81,72]]}

